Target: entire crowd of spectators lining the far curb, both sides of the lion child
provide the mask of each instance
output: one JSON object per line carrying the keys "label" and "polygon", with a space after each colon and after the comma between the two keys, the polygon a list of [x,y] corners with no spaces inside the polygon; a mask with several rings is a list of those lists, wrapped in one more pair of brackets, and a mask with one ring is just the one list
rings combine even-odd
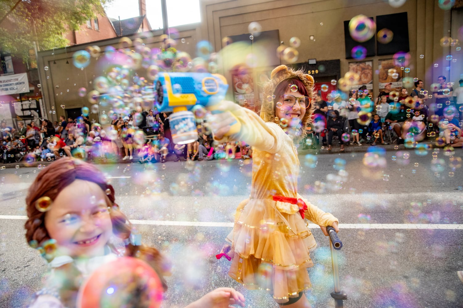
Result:
{"label": "entire crowd of spectators lining the far curb, both sides of the lion child", "polygon": [[[338,142],[340,151],[344,151],[345,145],[417,143],[425,139],[439,146],[463,145],[463,79],[455,91],[444,76],[438,77],[432,92],[423,88],[421,80],[415,82],[410,94],[406,88],[393,91],[391,85],[387,84],[374,100],[365,86],[350,91],[346,99],[333,92],[324,101],[321,92],[316,93],[314,120],[307,127],[302,149],[321,146],[331,151],[333,143]],[[76,119],[60,116],[59,122],[43,119],[39,126],[36,121],[19,121],[17,128],[1,121],[0,158],[3,163],[22,159],[50,161],[63,156],[163,163],[169,156],[176,162],[252,157],[245,142],[218,143],[202,124],[197,140],[175,145],[169,114],[153,109],[145,112],[138,108],[130,115],[113,114],[105,129],[83,115]]]}

